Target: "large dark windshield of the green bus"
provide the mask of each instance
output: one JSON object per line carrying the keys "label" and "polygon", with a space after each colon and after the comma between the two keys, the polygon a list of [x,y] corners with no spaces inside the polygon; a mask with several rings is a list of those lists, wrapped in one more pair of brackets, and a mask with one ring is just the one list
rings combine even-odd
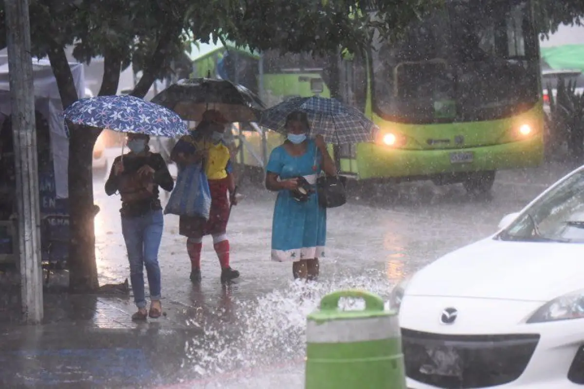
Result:
{"label": "large dark windshield of the green bus", "polygon": [[538,38],[526,0],[451,0],[371,51],[374,108],[428,124],[508,117],[540,96]]}

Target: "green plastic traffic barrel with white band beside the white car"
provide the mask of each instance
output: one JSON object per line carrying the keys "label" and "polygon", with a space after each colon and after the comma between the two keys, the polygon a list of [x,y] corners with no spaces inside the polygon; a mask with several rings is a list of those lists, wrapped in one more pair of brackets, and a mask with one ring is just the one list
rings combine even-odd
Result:
{"label": "green plastic traffic barrel with white band beside the white car", "polygon": [[[365,301],[364,310],[340,310],[339,299]],[[406,389],[397,314],[362,290],[326,295],[308,316],[305,389]]]}

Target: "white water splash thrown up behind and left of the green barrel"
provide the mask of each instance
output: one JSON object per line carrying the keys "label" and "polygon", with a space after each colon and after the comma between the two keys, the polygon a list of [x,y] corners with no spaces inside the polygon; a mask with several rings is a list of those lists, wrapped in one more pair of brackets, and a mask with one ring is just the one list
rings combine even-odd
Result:
{"label": "white water splash thrown up behind and left of the green barrel", "polygon": [[[225,321],[192,323],[203,327],[204,334],[186,342],[183,371],[199,380],[180,387],[301,388],[306,317],[323,296],[340,289],[363,289],[387,297],[391,282],[387,274],[366,272],[318,283],[291,282],[253,301],[234,300],[235,311],[215,313],[229,314]],[[340,306],[363,309],[363,302],[343,301]]]}

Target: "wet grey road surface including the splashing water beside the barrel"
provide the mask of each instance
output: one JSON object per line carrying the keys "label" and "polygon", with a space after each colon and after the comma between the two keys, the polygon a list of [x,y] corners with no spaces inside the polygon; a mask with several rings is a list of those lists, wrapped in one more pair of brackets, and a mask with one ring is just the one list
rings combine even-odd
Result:
{"label": "wet grey road surface including the splashing water beside the barrel", "polygon": [[[257,185],[242,188],[245,197],[228,226],[232,267],[242,276],[227,293],[219,283],[210,239],[204,241],[203,283],[194,288],[189,282],[190,264],[185,239],[178,236],[178,218],[166,216],[160,251],[163,295],[183,304],[192,317],[189,324],[203,330],[185,344],[183,376],[208,379],[233,369],[288,363],[290,371],[261,373],[276,377],[262,382],[265,387],[301,387],[302,369],[294,366],[304,353],[305,316],[319,297],[346,287],[387,296],[405,275],[495,232],[503,216],[519,211],[569,170],[549,166],[499,173],[486,198],[467,195],[461,185],[430,183],[353,190],[349,204],[329,210],[328,257],[322,261],[321,282],[312,286],[291,282],[291,265],[269,260],[275,197]],[[100,282],[121,282],[128,265],[120,235],[119,197],[106,197],[99,178],[95,197],[102,209],[96,218]],[[241,379],[234,384],[227,383],[228,377],[222,380],[223,384],[199,381],[183,387],[262,387],[253,379],[249,386]]]}

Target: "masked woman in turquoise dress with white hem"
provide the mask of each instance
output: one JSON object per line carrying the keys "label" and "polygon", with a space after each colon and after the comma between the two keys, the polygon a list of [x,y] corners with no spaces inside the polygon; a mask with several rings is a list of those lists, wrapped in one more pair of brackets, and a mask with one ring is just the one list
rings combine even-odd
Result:
{"label": "masked woman in turquoise dress with white hem", "polygon": [[[325,256],[326,208],[318,204],[316,182],[324,171],[336,175],[336,167],[322,136],[307,138],[307,115],[293,112],[286,118],[286,141],[272,150],[267,163],[266,188],[278,192],[272,223],[272,260],[292,262],[295,279],[314,280],[319,274],[318,258]],[[299,178],[312,192],[307,201],[297,201]]]}

